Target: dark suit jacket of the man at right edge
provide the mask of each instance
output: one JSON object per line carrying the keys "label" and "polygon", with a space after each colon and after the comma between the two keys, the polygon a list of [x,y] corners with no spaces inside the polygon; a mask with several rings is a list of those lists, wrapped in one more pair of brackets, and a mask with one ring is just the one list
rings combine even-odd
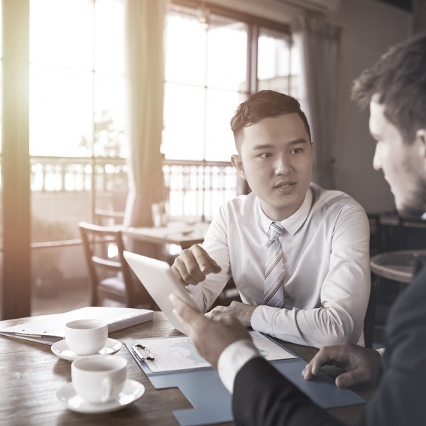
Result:
{"label": "dark suit jacket of the man at right edge", "polygon": [[[236,425],[340,425],[261,358],[236,375]],[[386,354],[376,391],[359,425],[426,425],[426,268],[388,316]]]}

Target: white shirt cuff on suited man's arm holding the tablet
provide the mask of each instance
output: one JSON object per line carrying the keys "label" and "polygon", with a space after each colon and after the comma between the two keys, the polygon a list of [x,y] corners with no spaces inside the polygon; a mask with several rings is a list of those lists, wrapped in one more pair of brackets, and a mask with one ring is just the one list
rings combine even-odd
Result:
{"label": "white shirt cuff on suited man's arm holding the tablet", "polygon": [[240,369],[256,356],[261,356],[249,339],[237,340],[226,346],[217,362],[217,372],[224,383],[226,389],[232,394],[234,391],[234,381]]}

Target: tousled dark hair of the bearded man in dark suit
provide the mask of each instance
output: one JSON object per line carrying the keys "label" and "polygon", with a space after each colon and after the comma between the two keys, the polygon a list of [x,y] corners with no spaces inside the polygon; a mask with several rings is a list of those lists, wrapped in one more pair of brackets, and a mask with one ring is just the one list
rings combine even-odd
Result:
{"label": "tousled dark hair of the bearded man in dark suit", "polygon": [[426,33],[393,46],[354,81],[351,97],[366,108],[374,95],[407,144],[426,127]]}

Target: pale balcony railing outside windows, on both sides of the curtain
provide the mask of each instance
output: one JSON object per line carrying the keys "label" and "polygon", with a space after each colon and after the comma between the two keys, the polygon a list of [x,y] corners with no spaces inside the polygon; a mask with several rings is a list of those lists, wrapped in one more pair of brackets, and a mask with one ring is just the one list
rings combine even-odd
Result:
{"label": "pale balcony railing outside windows, on both sides of the curtain", "polygon": [[[96,200],[92,208],[124,209],[125,201],[118,207],[112,201],[120,197],[119,192],[121,199],[126,198],[127,170],[124,158],[32,157],[31,191],[38,197],[58,195],[58,212],[60,195],[71,194],[92,194]],[[236,195],[236,171],[230,162],[163,160],[163,172],[170,216],[211,219],[220,205]],[[99,205],[102,197],[110,198],[111,205]]]}

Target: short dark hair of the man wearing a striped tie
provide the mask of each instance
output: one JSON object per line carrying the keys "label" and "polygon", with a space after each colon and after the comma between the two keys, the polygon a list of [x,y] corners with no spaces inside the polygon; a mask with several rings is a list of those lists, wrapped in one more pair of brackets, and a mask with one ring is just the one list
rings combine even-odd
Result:
{"label": "short dark hair of the man wearing a striped tie", "polygon": [[244,127],[256,124],[262,119],[292,113],[300,116],[303,124],[305,124],[307,134],[311,138],[307,118],[300,108],[300,103],[297,102],[297,99],[288,94],[274,92],[273,90],[261,90],[252,94],[249,99],[239,105],[231,119],[231,129],[234,133],[237,148],[239,148],[239,136],[241,136]]}

